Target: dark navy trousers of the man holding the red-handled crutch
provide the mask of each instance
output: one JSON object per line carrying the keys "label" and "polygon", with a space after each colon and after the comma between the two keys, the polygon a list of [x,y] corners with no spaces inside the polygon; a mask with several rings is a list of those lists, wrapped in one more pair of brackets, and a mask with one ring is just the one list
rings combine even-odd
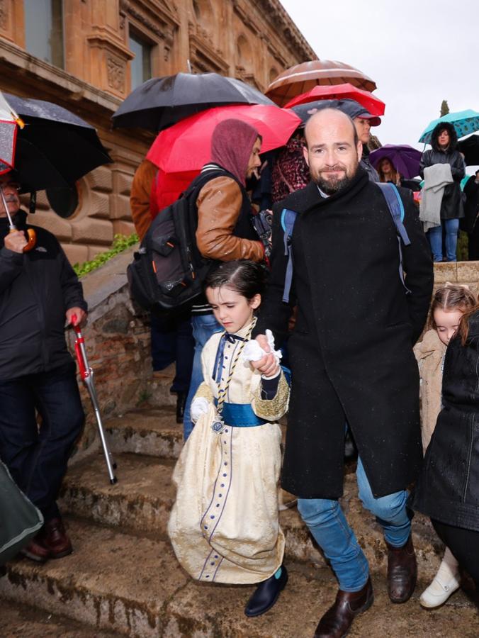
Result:
{"label": "dark navy trousers of the man holding the red-handled crutch", "polygon": [[74,363],[0,381],[0,405],[1,460],[45,521],[52,520],[60,515],[56,500],[84,424]]}

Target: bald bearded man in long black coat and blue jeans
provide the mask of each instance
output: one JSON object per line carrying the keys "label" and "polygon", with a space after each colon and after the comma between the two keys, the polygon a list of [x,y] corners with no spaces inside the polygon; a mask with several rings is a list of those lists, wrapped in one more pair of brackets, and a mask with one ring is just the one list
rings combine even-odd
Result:
{"label": "bald bearded man in long black coat and blue jeans", "polygon": [[[274,209],[271,279],[255,334],[286,336],[292,391],[282,484],[339,580],[337,599],[316,635],[345,634],[373,602],[368,563],[338,499],[343,490],[344,425],[359,450],[359,496],[382,525],[391,600],[410,598],[415,552],[406,488],[422,463],[419,376],[412,353],[427,318],[433,268],[410,191],[400,189],[410,245],[402,245],[380,188],[359,167],[362,145],[351,119],[335,109],[305,128],[312,181]],[[282,302],[288,257],[282,210],[296,211],[291,237],[291,303]],[[273,356],[255,366],[269,374]]]}

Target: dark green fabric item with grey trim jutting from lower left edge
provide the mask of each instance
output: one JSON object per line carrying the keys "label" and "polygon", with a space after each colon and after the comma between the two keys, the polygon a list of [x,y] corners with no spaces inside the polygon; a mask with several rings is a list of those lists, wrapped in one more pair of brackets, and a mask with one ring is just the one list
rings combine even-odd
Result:
{"label": "dark green fabric item with grey trim jutting from lower left edge", "polygon": [[28,500],[0,461],[0,565],[16,556],[42,525],[40,510]]}

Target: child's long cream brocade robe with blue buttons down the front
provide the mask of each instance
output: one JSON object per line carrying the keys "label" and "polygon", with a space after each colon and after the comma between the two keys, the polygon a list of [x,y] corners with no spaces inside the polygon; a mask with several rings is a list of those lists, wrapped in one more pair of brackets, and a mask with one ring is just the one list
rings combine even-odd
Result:
{"label": "child's long cream brocade robe with blue buttons down the front", "polygon": [[[238,332],[247,334],[249,326]],[[281,430],[276,422],[213,431],[218,420],[212,377],[222,333],[203,348],[203,384],[196,396],[210,401],[181,451],[174,469],[176,503],[168,532],[181,566],[198,581],[259,583],[283,562],[284,535],[278,522]],[[226,342],[221,386],[241,342]],[[261,375],[240,356],[227,391],[228,403],[248,403],[254,413],[276,421],[288,409],[283,373],[276,396],[261,399]]]}

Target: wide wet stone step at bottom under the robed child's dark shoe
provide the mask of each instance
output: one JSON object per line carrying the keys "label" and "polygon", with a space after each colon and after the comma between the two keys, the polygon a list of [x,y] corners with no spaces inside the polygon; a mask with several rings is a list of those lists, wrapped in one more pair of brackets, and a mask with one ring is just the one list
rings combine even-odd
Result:
{"label": "wide wet stone step at bottom under the robed child's dark shoe", "polygon": [[[131,638],[310,638],[337,590],[329,569],[291,562],[288,586],[274,609],[248,619],[243,608],[254,586],[196,583],[179,567],[167,542],[85,520],[67,517],[66,522],[74,553],[45,565],[12,561],[0,578],[1,598],[52,614],[61,609],[77,622]],[[463,594],[425,612],[417,600],[424,584],[408,603],[393,605],[385,578],[373,575],[375,603],[356,619],[349,635],[477,638],[478,615]]]}

